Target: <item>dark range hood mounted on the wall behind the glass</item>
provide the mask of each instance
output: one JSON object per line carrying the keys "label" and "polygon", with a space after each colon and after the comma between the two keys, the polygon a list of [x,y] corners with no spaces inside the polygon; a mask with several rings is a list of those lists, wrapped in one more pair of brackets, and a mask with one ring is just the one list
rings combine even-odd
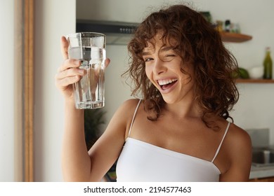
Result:
{"label": "dark range hood mounted on the wall behind the glass", "polygon": [[131,36],[138,26],[138,23],[98,21],[98,20],[77,20],[77,32],[99,32],[107,36],[107,44],[127,45]]}

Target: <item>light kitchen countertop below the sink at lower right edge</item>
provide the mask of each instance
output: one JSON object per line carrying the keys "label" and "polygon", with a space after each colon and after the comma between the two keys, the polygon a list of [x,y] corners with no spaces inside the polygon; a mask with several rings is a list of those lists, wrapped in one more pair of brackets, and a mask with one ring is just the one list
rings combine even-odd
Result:
{"label": "light kitchen countertop below the sink at lower right edge", "polygon": [[255,167],[252,165],[249,179],[261,179],[274,176],[274,166]]}

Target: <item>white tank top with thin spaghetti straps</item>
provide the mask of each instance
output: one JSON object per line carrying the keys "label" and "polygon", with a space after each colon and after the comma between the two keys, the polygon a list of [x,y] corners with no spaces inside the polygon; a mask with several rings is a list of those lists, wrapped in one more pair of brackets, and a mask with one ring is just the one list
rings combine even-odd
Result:
{"label": "white tank top with thin spaghetti straps", "polygon": [[[140,103],[141,101],[136,107],[131,127]],[[230,123],[226,127],[223,139],[226,137],[229,126]],[[223,139],[214,158],[208,161],[133,139],[130,137],[131,127],[129,137],[126,139],[117,161],[117,182],[219,181],[221,172],[213,162],[218,155]]]}

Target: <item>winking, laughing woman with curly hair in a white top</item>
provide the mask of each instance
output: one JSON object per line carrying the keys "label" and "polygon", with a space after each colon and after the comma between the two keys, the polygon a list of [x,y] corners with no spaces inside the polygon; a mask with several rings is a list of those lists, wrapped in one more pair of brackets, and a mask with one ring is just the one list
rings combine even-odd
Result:
{"label": "winking, laughing woman with curly hair in a white top", "polygon": [[143,98],[124,102],[89,152],[72,92],[84,72],[67,58],[64,37],[62,46],[56,85],[65,97],[65,181],[100,181],[117,159],[117,181],[248,181],[249,135],[228,122],[237,62],[200,13],[176,5],[139,25],[126,73]]}

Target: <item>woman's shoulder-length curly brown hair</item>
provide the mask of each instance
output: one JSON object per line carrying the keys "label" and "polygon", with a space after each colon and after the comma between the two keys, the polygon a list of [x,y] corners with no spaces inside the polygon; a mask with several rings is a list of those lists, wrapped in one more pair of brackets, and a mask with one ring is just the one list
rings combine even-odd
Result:
{"label": "woman's shoulder-length curly brown hair", "polygon": [[126,73],[135,83],[132,94],[142,94],[148,119],[157,120],[165,105],[162,95],[145,74],[142,57],[148,41],[152,41],[159,31],[163,41],[175,40],[176,44],[172,45],[174,51],[183,62],[193,66],[195,102],[202,109],[204,123],[211,127],[209,125],[213,122],[209,122],[207,117],[212,115],[231,118],[228,111],[233,109],[239,97],[233,78],[237,70],[235,57],[223,45],[218,31],[201,13],[188,6],[174,5],[148,15],[128,44],[131,66]]}

